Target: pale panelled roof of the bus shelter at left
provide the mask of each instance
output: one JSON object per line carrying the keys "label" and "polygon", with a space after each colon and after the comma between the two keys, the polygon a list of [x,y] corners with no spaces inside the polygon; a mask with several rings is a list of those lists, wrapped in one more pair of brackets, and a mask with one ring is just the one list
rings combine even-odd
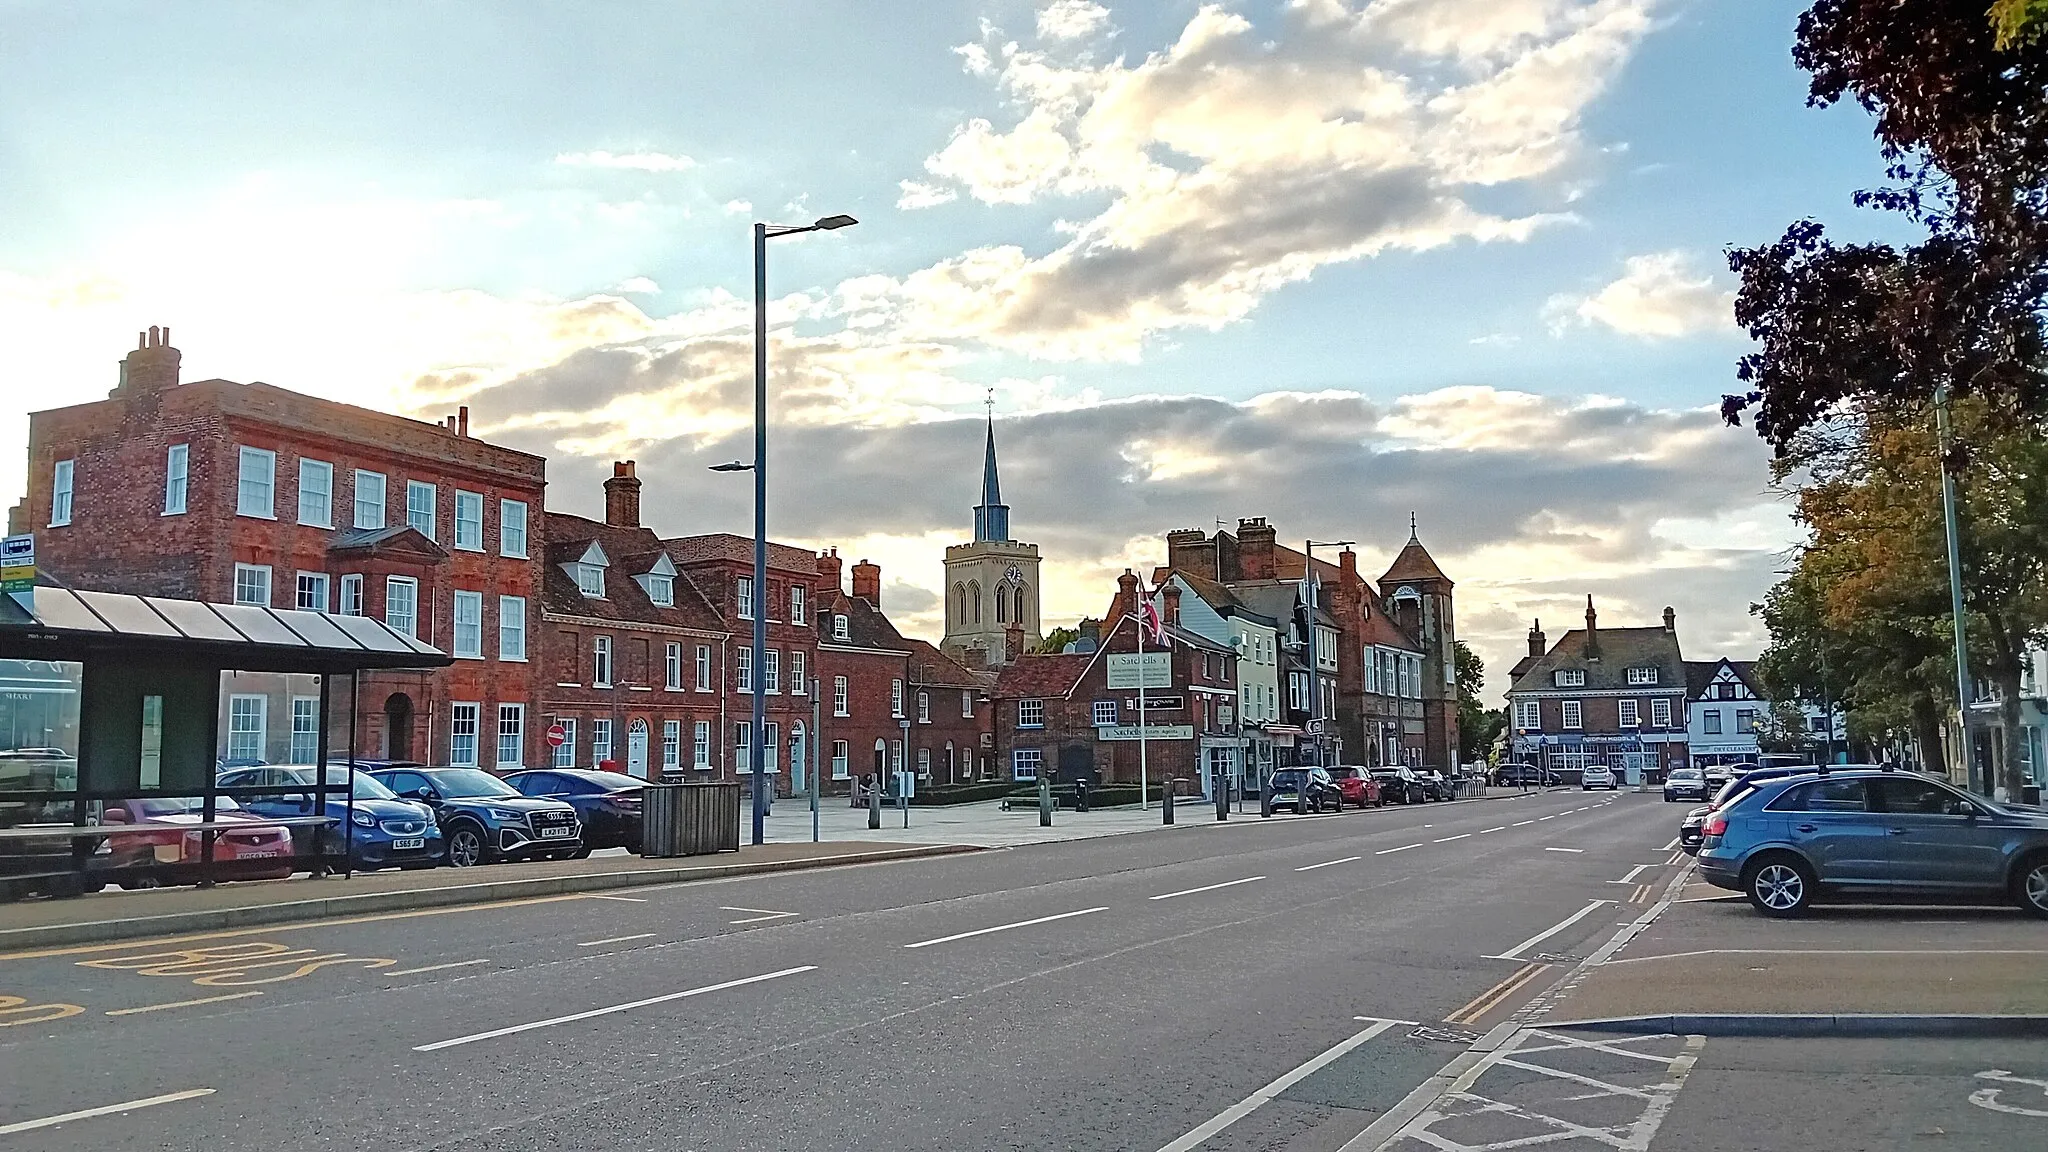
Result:
{"label": "pale panelled roof of the bus shelter at left", "polygon": [[373,617],[207,605],[170,596],[33,588],[35,611],[0,596],[0,635],[31,660],[164,654],[248,672],[440,668],[446,654]]}

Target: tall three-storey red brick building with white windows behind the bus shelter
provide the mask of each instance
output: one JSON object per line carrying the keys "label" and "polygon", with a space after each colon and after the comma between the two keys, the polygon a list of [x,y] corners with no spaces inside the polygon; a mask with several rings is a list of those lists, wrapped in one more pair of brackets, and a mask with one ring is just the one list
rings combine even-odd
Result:
{"label": "tall three-storey red brick building with white windows behind the bus shelter", "polygon": [[[78,588],[381,617],[457,662],[367,672],[362,756],[539,763],[545,461],[469,437],[467,410],[428,424],[266,383],[178,383],[178,363],[152,328],[106,400],[29,416],[10,529],[35,533],[39,566]],[[297,709],[272,703],[233,722],[297,732]]]}

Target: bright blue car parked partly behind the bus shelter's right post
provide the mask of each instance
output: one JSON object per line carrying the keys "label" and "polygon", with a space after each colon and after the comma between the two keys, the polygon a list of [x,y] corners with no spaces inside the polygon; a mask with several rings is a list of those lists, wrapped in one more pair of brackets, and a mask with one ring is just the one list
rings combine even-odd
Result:
{"label": "bright blue car parked partly behind the bus shelter's right post", "polygon": [[[242,808],[258,816],[311,816],[313,795],[291,791],[311,787],[317,769],[311,765],[270,765],[262,769],[236,769],[217,781],[221,787],[274,787],[279,791],[244,795]],[[346,795],[328,793],[328,816],[334,828],[348,820],[348,840],[338,834],[324,836],[328,857],[340,859],[348,845],[354,845],[354,867],[377,871],[381,867],[422,869],[434,867],[446,857],[440,838],[440,824],[434,810],[418,799],[399,799],[391,789],[377,783],[367,773],[350,773],[346,765],[328,765],[330,785],[348,785],[354,775],[354,804]],[[293,840],[299,855],[311,855],[311,828],[295,828]]]}

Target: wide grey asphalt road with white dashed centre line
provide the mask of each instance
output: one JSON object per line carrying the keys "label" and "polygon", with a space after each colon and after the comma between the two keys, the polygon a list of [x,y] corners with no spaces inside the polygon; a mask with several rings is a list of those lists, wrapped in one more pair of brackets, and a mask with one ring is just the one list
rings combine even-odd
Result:
{"label": "wide grey asphalt road with white dashed centre line", "polygon": [[1339,1148],[1640,914],[1677,812],[1233,818],[8,955],[0,1150],[1159,1150],[1219,1113],[1204,1150]]}

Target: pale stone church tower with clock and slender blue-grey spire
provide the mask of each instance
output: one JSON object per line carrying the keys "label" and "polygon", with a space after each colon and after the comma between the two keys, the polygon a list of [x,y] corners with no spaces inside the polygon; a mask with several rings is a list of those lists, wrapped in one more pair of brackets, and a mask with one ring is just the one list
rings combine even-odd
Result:
{"label": "pale stone church tower with clock and slender blue-grey spire", "polygon": [[940,648],[969,666],[1010,664],[1010,629],[1022,629],[1022,650],[1038,644],[1038,545],[1010,539],[1010,504],[1004,504],[995,469],[995,412],[989,412],[981,453],[981,502],[975,504],[975,541],[946,549],[946,640]]}

